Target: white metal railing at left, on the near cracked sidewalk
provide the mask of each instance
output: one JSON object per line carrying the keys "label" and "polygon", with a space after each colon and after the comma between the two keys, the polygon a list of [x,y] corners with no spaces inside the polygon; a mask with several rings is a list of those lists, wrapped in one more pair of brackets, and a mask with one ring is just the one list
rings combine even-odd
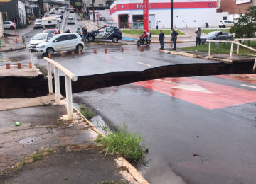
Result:
{"label": "white metal railing at left, on the near cracked sidewalk", "polygon": [[72,81],[78,81],[78,77],[71,73],[68,69],[58,64],[58,62],[53,61],[53,59],[49,59],[44,57],[43,59],[47,62],[48,69],[48,86],[49,93],[53,93],[53,79],[51,73],[51,64],[54,66],[54,86],[55,86],[55,103],[60,103],[60,76],[59,70],[65,74],[65,91],[66,91],[66,99],[67,99],[67,114],[68,117],[73,116],[73,99],[72,99]]}

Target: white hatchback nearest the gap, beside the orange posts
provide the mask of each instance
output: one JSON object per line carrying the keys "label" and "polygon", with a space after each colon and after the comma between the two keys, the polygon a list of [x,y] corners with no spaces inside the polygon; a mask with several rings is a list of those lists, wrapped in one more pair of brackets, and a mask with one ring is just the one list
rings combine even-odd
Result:
{"label": "white hatchback nearest the gap, beside the orange posts", "polygon": [[78,33],[62,33],[36,46],[36,52],[53,54],[63,50],[83,50],[85,47]]}

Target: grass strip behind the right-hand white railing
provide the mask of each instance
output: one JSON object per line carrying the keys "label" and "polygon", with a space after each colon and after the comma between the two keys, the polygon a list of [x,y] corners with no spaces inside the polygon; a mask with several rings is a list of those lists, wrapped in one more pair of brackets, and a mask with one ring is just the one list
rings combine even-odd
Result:
{"label": "grass strip behind the right-hand white railing", "polygon": [[[244,45],[248,46],[248,42],[245,42]],[[217,50],[217,46],[211,43],[210,45],[210,54],[230,54],[230,47],[231,43],[220,43],[219,49]],[[250,41],[250,47],[256,49],[256,42]],[[208,52],[209,45],[207,44],[202,44],[198,47],[183,47],[183,50],[190,50],[190,51],[199,51],[199,52]],[[236,54],[237,51],[237,45],[233,45],[233,54]],[[256,55],[256,52],[253,50],[249,50],[245,47],[240,46],[239,47],[239,54],[240,55]]]}

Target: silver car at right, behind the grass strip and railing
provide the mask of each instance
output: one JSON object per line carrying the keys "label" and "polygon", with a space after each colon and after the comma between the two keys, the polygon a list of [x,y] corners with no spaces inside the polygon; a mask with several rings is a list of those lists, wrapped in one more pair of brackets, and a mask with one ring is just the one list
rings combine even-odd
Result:
{"label": "silver car at right, behind the grass strip and railing", "polygon": [[206,40],[233,40],[233,35],[225,31],[213,31],[201,37],[201,42]]}

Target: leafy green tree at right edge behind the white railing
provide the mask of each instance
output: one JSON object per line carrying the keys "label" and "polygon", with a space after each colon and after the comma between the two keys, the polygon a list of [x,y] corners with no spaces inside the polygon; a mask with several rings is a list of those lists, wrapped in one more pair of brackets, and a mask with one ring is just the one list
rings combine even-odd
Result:
{"label": "leafy green tree at right edge behind the white railing", "polygon": [[[235,25],[230,28],[230,33],[235,33],[235,38],[253,38],[256,32],[256,6],[250,6],[245,14],[240,13]],[[248,42],[250,46],[250,42]]]}

